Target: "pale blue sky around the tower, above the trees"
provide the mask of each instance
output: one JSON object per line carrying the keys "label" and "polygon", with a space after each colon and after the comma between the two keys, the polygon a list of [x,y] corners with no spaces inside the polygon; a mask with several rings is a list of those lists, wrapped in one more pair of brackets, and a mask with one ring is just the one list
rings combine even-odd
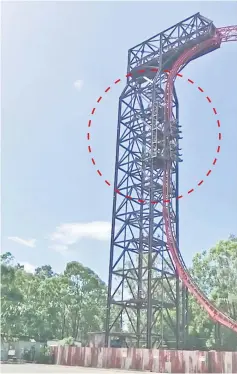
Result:
{"label": "pale blue sky around the tower, above the trees", "polygon": [[[112,187],[95,173],[86,142],[97,98],[126,74],[134,45],[200,12],[217,27],[236,24],[228,2],[24,2],[2,13],[2,251],[31,266],[62,271],[77,260],[108,274]],[[187,263],[237,234],[236,43],[192,62],[183,74],[211,97],[223,134],[213,173],[180,201],[180,248]],[[75,82],[80,81],[79,84]],[[98,107],[91,144],[113,180],[118,97]],[[177,81],[184,162],[180,192],[203,179],[218,129],[210,104]]]}

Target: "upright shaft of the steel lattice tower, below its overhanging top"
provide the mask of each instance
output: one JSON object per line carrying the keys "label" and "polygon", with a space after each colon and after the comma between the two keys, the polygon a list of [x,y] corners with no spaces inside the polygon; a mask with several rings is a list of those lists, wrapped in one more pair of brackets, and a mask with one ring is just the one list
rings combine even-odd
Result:
{"label": "upright shaft of the steel lattice tower, below its overhanging top", "polygon": [[[130,79],[119,100],[106,345],[114,336],[146,348],[178,348],[181,340],[180,280],[162,214],[166,81],[165,73]],[[176,113],[175,98],[172,107]]]}

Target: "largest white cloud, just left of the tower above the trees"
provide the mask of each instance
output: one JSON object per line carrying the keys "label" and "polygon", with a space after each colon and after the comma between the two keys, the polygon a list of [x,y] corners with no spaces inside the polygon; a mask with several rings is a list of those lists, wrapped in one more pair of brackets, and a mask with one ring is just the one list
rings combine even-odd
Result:
{"label": "largest white cloud, just left of the tower above the trees", "polygon": [[63,223],[51,234],[52,245],[50,248],[62,253],[67,250],[68,246],[77,243],[83,238],[101,241],[108,240],[110,232],[110,222]]}

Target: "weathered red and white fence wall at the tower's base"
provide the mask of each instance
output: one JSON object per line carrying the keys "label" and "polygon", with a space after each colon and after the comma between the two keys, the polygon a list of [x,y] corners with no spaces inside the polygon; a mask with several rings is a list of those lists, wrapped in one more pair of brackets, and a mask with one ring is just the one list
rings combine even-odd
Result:
{"label": "weathered red and white fence wall at the tower's base", "polygon": [[237,352],[55,347],[55,364],[155,373],[237,373]]}

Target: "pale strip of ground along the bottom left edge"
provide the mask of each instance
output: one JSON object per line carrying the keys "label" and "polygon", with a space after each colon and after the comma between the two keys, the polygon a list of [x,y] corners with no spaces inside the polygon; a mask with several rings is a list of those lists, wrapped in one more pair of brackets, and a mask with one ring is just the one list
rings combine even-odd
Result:
{"label": "pale strip of ground along the bottom left edge", "polygon": [[79,366],[61,365],[37,365],[37,364],[2,364],[1,373],[13,374],[51,374],[51,373],[78,373],[78,374],[134,374],[144,373],[142,371],[118,370],[118,369],[96,369]]}

